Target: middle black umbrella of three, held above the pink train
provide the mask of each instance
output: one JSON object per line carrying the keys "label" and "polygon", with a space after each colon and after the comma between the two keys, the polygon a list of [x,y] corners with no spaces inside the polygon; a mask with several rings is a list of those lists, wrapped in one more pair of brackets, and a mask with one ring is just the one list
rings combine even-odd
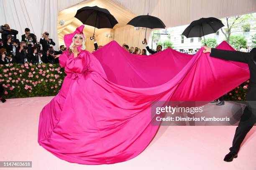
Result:
{"label": "middle black umbrella of three, held above the pink train", "polygon": [[[147,33],[147,28],[165,28],[164,23],[159,19],[151,15],[140,15],[133,18],[128,25],[133,25],[134,27],[146,27],[145,38]],[[144,41],[142,41],[145,44]]]}

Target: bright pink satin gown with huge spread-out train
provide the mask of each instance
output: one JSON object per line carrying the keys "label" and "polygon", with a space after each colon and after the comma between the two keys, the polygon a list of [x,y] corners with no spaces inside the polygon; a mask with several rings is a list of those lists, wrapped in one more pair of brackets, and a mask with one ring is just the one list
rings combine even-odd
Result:
{"label": "bright pink satin gown with huge spread-out train", "polygon": [[[222,49],[232,50],[223,42]],[[172,49],[133,55],[112,41],[59,57],[67,76],[41,111],[38,143],[70,163],[130,160],[151,142],[151,101],[214,100],[249,78],[248,65]]]}

